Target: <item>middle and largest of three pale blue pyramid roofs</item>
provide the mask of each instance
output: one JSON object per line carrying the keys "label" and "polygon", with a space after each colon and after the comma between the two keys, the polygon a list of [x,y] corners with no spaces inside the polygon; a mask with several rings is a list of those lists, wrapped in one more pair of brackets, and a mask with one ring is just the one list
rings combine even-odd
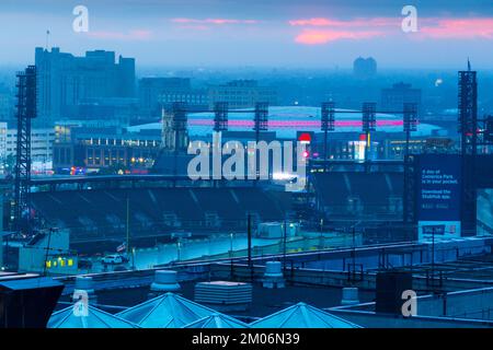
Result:
{"label": "middle and largest of three pale blue pyramid roofs", "polygon": [[217,312],[180,295],[165,293],[125,310],[117,316],[142,328],[182,328],[211,314]]}

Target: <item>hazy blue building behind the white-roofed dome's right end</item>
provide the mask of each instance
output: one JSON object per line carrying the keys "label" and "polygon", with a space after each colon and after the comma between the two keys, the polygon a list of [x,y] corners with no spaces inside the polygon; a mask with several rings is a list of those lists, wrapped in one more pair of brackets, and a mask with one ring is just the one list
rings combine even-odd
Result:
{"label": "hazy blue building behind the white-roofed dome's right end", "polygon": [[402,110],[404,103],[417,104],[421,109],[421,89],[412,88],[403,82],[393,84],[390,89],[381,90],[381,109],[383,112]]}

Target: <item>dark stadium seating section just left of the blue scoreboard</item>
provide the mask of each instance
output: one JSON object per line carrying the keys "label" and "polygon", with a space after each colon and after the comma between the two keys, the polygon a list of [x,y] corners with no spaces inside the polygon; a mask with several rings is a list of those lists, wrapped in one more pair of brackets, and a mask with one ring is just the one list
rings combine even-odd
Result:
{"label": "dark stadium seating section just left of the blue scoreboard", "polygon": [[317,173],[313,185],[317,209],[329,221],[402,220],[402,173]]}

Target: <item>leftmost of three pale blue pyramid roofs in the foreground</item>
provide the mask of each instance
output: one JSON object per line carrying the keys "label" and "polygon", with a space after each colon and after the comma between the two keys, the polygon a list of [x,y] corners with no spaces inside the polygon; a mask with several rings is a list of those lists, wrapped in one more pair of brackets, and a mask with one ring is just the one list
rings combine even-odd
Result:
{"label": "leftmost of three pale blue pyramid roofs in the foreground", "polygon": [[48,320],[48,328],[138,328],[126,319],[91,305],[88,306],[87,316],[76,313],[73,307],[69,306],[54,313]]}

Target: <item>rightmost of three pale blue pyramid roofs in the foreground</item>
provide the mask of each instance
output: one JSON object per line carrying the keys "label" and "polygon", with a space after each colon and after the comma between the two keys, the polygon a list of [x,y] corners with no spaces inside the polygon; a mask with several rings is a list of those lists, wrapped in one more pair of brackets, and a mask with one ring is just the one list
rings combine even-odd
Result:
{"label": "rightmost of three pale blue pyramid roofs in the foreground", "polygon": [[250,325],[252,328],[360,328],[305,303],[298,303]]}

